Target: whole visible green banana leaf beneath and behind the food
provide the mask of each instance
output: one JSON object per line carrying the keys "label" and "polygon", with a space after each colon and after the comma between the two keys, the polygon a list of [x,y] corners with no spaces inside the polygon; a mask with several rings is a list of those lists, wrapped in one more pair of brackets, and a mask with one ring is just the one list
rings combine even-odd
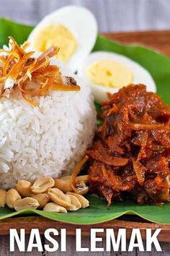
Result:
{"label": "whole visible green banana leaf beneath and behind the food", "polygon": [[[18,43],[27,40],[33,27],[19,25],[11,20],[0,19],[0,46],[8,43],[8,36],[11,35]],[[114,51],[118,54],[128,56],[137,61],[143,67],[148,69],[156,82],[157,93],[168,104],[170,104],[170,59],[157,51],[153,51],[143,46],[126,46],[98,36],[93,51]],[[96,105],[99,110],[99,104]],[[138,206],[131,200],[115,202],[107,208],[107,202],[93,195],[86,196],[90,202],[89,208],[80,209],[70,213],[46,213],[42,210],[23,210],[15,212],[7,207],[0,208],[0,220],[17,215],[35,215],[44,216],[56,221],[67,223],[92,224],[102,223],[125,214],[138,215],[148,221],[155,223],[170,224],[170,203],[162,206],[142,205]]]}

